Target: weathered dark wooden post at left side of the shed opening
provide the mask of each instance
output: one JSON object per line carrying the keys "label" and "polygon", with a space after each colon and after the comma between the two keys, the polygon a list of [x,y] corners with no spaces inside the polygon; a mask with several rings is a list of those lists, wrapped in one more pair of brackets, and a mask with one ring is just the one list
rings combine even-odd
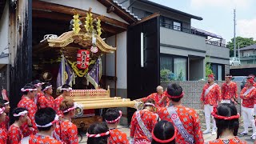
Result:
{"label": "weathered dark wooden post at left side of the shed opening", "polygon": [[[21,88],[32,80],[32,0],[10,4],[10,107],[17,107]],[[10,115],[11,116],[11,115]],[[10,118],[13,122],[13,118]]]}

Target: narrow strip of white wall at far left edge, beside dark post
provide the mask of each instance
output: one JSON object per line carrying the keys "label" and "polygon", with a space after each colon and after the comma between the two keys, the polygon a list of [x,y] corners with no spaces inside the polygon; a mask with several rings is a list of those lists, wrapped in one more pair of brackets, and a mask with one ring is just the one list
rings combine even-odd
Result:
{"label": "narrow strip of white wall at far left edge, beside dark post", "polygon": [[[0,55],[2,53],[9,54],[8,46],[8,28],[9,28],[9,6],[6,2],[6,6],[0,19]],[[8,64],[9,57],[0,58],[0,64]]]}

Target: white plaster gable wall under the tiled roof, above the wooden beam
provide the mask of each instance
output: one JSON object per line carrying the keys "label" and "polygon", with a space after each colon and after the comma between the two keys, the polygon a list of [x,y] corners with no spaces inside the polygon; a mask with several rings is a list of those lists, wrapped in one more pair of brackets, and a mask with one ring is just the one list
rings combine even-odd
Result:
{"label": "white plaster gable wall under the tiled roof, above the wooden beam", "polygon": [[63,6],[71,6],[71,7],[82,9],[82,10],[89,10],[89,8],[91,7],[92,12],[95,14],[105,15],[106,17],[114,18],[120,22],[126,22],[125,20],[123,20],[113,12],[106,13],[106,6],[102,5],[100,2],[96,0],[41,0],[41,1],[56,3]]}

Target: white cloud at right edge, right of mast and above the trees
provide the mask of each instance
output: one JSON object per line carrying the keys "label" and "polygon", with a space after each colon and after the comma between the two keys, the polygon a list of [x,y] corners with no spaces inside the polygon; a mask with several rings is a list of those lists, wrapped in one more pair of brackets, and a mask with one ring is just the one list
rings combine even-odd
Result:
{"label": "white cloud at right edge, right of mast and above the trees", "polygon": [[256,18],[238,20],[237,24],[238,36],[254,38],[256,40]]}

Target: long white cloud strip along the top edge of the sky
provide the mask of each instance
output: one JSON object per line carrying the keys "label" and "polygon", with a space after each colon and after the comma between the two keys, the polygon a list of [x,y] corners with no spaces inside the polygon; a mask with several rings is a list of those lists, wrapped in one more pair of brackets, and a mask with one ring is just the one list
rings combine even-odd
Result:
{"label": "long white cloud strip along the top edge of the sky", "polygon": [[246,9],[253,0],[191,0],[190,6],[193,9],[200,9],[207,6],[222,7],[226,9]]}

